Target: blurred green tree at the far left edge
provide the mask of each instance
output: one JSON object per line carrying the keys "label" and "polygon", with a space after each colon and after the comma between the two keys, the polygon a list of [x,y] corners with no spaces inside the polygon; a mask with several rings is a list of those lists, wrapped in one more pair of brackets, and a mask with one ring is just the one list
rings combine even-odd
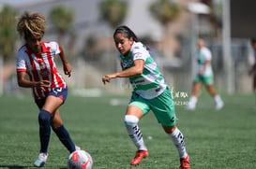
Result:
{"label": "blurred green tree at the far left edge", "polygon": [[16,10],[9,6],[4,6],[0,10],[0,55],[4,61],[14,56],[16,40]]}

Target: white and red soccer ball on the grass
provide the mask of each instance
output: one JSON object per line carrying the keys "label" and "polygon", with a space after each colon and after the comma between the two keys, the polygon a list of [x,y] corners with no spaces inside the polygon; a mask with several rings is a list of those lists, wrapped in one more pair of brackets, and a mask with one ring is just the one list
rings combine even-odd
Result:
{"label": "white and red soccer ball on the grass", "polygon": [[92,169],[93,159],[83,149],[76,150],[68,156],[68,169]]}

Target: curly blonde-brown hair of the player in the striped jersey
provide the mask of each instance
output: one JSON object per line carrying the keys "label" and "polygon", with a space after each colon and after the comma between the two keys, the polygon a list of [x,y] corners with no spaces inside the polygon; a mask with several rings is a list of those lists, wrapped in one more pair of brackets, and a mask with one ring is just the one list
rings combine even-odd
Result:
{"label": "curly blonde-brown hair of the player in the striped jersey", "polygon": [[26,39],[31,35],[44,35],[46,31],[46,20],[40,13],[29,13],[25,11],[17,23],[18,33]]}

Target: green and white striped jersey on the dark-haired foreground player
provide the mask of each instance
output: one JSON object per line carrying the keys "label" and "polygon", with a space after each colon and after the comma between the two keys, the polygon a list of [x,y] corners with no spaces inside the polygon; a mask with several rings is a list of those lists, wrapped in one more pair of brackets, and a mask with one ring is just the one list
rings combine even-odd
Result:
{"label": "green and white striped jersey on the dark-haired foreground player", "polygon": [[123,68],[134,66],[135,60],[143,60],[143,74],[129,77],[134,92],[144,99],[153,99],[165,91],[167,84],[159,72],[158,65],[141,42],[133,42],[128,56],[119,55]]}

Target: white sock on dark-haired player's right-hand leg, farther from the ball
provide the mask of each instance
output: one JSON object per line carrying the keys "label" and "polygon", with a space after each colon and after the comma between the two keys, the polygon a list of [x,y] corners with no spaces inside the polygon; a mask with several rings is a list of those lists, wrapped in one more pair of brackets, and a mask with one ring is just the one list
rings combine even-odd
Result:
{"label": "white sock on dark-haired player's right-hand leg, farther from the ball", "polygon": [[179,157],[184,159],[187,157],[187,151],[185,147],[185,140],[183,134],[176,128],[172,134],[168,134],[173,139],[173,144],[178,150]]}

